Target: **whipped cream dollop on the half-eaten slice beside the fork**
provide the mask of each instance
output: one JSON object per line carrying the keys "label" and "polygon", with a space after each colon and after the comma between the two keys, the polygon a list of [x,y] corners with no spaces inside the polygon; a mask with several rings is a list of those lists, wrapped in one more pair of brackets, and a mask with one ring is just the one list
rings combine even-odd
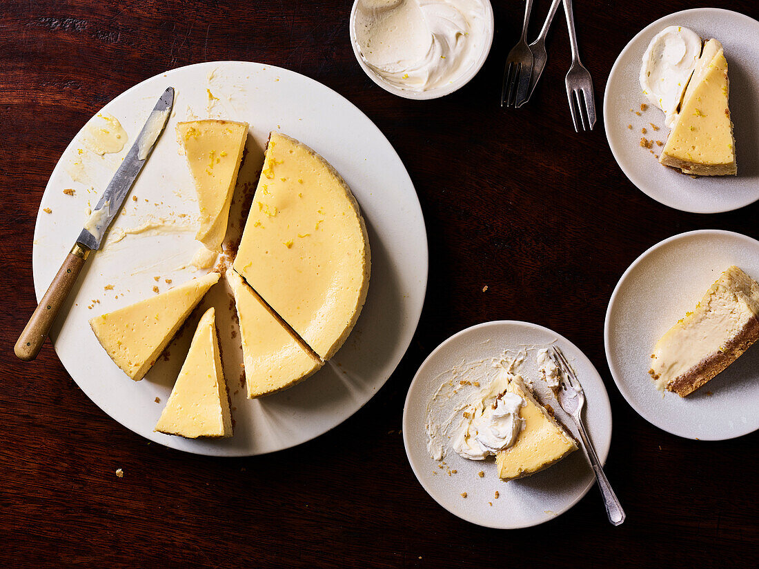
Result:
{"label": "whipped cream dollop on the half-eaten slice beside the fork", "polygon": [[468,400],[451,441],[453,450],[461,457],[483,461],[516,441],[524,423],[519,417],[524,400],[506,391],[513,378],[509,369],[504,368]]}

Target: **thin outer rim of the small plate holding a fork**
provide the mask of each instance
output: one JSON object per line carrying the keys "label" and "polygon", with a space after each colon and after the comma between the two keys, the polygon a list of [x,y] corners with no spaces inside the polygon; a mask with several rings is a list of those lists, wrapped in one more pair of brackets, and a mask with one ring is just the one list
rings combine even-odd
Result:
{"label": "thin outer rim of the small plate holding a fork", "polygon": [[[533,322],[524,322],[523,320],[490,320],[488,322],[480,322],[480,324],[475,324],[473,326],[470,326],[469,328],[463,329],[460,332],[456,332],[454,335],[450,336],[446,340],[442,341],[441,344],[439,344],[438,347],[436,347],[429,356],[424,358],[424,362],[421,363],[419,366],[419,369],[417,369],[417,373],[414,374],[414,379],[411,380],[411,385],[408,386],[408,392],[406,394],[406,399],[403,405],[403,419],[402,419],[402,426],[403,426],[403,446],[406,451],[406,458],[408,460],[408,464],[411,466],[411,470],[414,472],[414,476],[417,477],[417,482],[420,484],[422,488],[424,488],[424,491],[427,492],[427,494],[430,495],[430,498],[433,498],[436,503],[443,508],[444,510],[448,511],[450,514],[454,515],[455,517],[461,518],[461,520],[468,521],[470,523],[474,523],[475,525],[478,525],[480,527],[490,527],[495,530],[519,530],[524,527],[534,527],[538,526],[542,523],[546,523],[547,521],[553,520],[556,517],[559,517],[561,514],[564,514],[566,511],[571,510],[575,505],[578,504],[579,501],[581,501],[582,498],[587,495],[587,492],[590,491],[590,489],[596,484],[596,478],[595,476],[591,479],[591,482],[585,486],[585,488],[580,492],[575,498],[572,499],[572,501],[566,505],[564,508],[562,508],[560,511],[554,511],[553,514],[546,514],[546,517],[543,520],[538,521],[537,523],[528,523],[526,525],[520,524],[515,526],[496,526],[496,525],[490,525],[486,523],[480,523],[476,522],[474,520],[461,517],[457,512],[450,510],[449,508],[446,508],[445,505],[442,505],[440,501],[436,498],[435,494],[433,494],[433,491],[430,489],[429,486],[427,486],[424,483],[423,477],[420,475],[419,471],[417,470],[417,465],[414,464],[414,460],[412,459],[411,451],[409,449],[409,442],[408,442],[408,429],[406,429],[406,421],[407,421],[407,415],[408,415],[408,407],[409,407],[409,400],[411,398],[411,390],[414,387],[414,383],[417,382],[417,379],[420,377],[420,373],[424,370],[424,367],[427,366],[427,363],[430,362],[430,360],[433,360],[433,358],[437,357],[437,355],[446,349],[446,347],[456,339],[460,338],[463,335],[466,335],[470,332],[473,332],[474,330],[485,328],[487,326],[492,325],[517,325],[517,326],[524,326],[525,328],[531,328],[535,330],[540,330],[541,332],[548,332],[550,335],[553,335],[556,337],[556,342],[562,342],[565,343],[565,345],[572,346],[576,351],[577,354],[584,360],[584,363],[587,364],[587,366],[591,367],[591,369],[595,369],[597,375],[600,378],[600,373],[598,373],[598,370],[596,369],[596,366],[593,365],[593,362],[588,359],[588,357],[584,354],[583,351],[579,347],[577,347],[575,344],[573,344],[571,341],[569,341],[567,338],[562,336],[561,334],[554,332],[550,328],[546,328],[545,326],[541,326],[540,324],[534,324]],[[598,459],[600,461],[601,466],[603,467],[606,464],[606,459],[609,457],[609,449],[611,448],[611,437],[613,435],[613,426],[614,426],[614,418],[613,414],[611,413],[611,402],[609,401],[609,393],[606,391],[606,385],[603,383],[603,379],[600,381],[603,389],[601,390],[601,393],[603,394],[603,397],[606,401],[606,406],[609,408],[609,448],[606,449],[599,449],[596,448]],[[590,464],[588,464],[588,468],[590,468]]]}

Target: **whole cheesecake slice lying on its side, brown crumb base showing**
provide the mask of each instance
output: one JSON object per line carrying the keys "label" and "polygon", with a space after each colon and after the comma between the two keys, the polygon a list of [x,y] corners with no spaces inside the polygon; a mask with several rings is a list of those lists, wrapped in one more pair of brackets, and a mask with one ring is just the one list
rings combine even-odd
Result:
{"label": "whole cheesecake slice lying on its side, brown crumb base showing", "polygon": [[653,348],[648,371],[660,391],[690,395],[759,338],[759,283],[736,266]]}

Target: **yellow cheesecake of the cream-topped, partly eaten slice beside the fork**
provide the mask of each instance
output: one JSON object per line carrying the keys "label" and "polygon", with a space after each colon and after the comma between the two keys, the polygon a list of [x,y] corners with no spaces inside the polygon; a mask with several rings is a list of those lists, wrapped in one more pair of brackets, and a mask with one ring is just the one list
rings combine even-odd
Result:
{"label": "yellow cheesecake of the cream-topped, partly eaten slice beside the fork", "polygon": [[506,388],[524,400],[519,417],[524,420],[513,445],[496,453],[498,476],[503,480],[524,478],[556,464],[577,450],[577,443],[534,398],[518,376]]}

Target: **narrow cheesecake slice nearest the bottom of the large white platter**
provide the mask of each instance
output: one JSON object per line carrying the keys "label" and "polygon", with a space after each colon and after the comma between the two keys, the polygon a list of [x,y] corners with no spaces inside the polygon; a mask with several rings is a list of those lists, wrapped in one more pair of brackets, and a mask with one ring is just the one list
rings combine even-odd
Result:
{"label": "narrow cheesecake slice nearest the bottom of the large white platter", "polygon": [[229,394],[216,335],[213,308],[206,310],[169,396],[157,432],[198,437],[231,437]]}

